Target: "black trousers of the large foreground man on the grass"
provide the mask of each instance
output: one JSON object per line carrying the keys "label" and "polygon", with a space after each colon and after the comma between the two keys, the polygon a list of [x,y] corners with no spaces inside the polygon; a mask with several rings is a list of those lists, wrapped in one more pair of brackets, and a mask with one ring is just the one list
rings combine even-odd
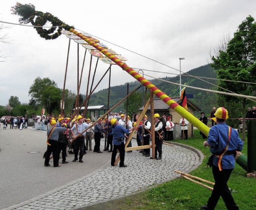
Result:
{"label": "black trousers of the large foreground man on the grass", "polygon": [[218,203],[218,200],[220,196],[222,197],[223,201],[226,204],[226,207],[228,210],[238,210],[238,206],[236,206],[236,203],[230,193],[230,190],[228,189],[228,179],[230,177],[230,174],[232,172],[232,169],[222,169],[222,171],[219,170],[218,167],[212,166],[212,174],[214,176],[215,184],[213,187],[212,195],[210,196],[207,207],[209,210],[214,210],[215,206]]}

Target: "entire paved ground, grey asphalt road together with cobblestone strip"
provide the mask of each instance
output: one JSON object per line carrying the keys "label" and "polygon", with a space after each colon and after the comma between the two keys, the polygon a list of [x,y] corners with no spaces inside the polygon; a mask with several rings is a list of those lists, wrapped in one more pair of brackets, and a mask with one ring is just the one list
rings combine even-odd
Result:
{"label": "entire paved ground, grey asphalt road together with cobblestone strip", "polygon": [[[9,206],[6,210],[90,206],[166,182],[179,176],[174,170],[189,172],[201,163],[201,153],[198,156],[184,147],[163,145],[162,160],[145,158],[138,151],[126,153],[127,168],[110,166],[110,153],[92,151],[86,154],[84,163],[44,167],[45,133],[30,130],[0,132],[0,166],[4,172],[0,181],[0,208]],[[15,148],[14,152],[11,148]],[[68,161],[73,158],[70,156]],[[143,180],[142,174],[147,174]]]}

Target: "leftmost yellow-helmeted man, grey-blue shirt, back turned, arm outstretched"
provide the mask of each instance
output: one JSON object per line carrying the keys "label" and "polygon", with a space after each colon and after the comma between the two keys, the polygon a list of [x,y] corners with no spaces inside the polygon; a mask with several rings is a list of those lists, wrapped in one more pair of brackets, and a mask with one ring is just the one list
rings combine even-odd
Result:
{"label": "leftmost yellow-helmeted man, grey-blue shirt, back turned, arm outstretched", "polygon": [[60,149],[59,149],[59,132],[66,131],[64,127],[56,127],[56,120],[51,121],[52,127],[47,131],[47,151],[44,160],[44,166],[50,166],[50,155],[53,156],[53,166],[59,167]]}

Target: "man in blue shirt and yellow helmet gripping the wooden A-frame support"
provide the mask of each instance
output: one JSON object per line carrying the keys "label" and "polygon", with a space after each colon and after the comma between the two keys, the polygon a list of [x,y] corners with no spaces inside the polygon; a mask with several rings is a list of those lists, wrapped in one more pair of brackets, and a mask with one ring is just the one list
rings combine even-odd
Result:
{"label": "man in blue shirt and yellow helmet gripping the wooden A-frame support", "polygon": [[135,127],[131,129],[125,129],[121,125],[118,125],[118,121],[115,118],[112,118],[110,120],[110,123],[112,124],[112,134],[113,134],[113,151],[112,151],[112,157],[111,157],[111,166],[115,166],[116,161],[116,154],[117,149],[120,153],[120,167],[127,167],[127,165],[124,164],[124,155],[125,155],[125,149],[124,149],[124,134],[128,134],[129,131],[135,130]]}

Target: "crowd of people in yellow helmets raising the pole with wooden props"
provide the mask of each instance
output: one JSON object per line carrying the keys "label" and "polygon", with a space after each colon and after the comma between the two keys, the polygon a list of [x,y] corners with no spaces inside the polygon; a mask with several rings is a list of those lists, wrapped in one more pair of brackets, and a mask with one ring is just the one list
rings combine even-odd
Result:
{"label": "crowd of people in yellow helmets raising the pole with wooden props", "polygon": [[[44,154],[44,165],[50,166],[49,160],[52,154],[54,159],[54,167],[59,167],[60,152],[62,151],[62,163],[68,163],[66,161],[66,150],[69,147],[70,154],[74,153],[73,162],[83,162],[83,155],[86,154],[86,150],[92,151],[92,139],[94,138],[95,145],[93,152],[102,153],[100,151],[101,138],[106,135],[107,144],[104,151],[112,152],[111,165],[113,166],[116,160],[116,154],[120,153],[120,167],[126,167],[124,164],[124,145],[127,141],[130,133],[135,129],[136,123],[139,123],[137,128],[137,143],[138,146],[142,145],[142,133],[143,133],[143,145],[150,144],[151,135],[151,123],[148,121],[148,117],[145,115],[141,122],[137,122],[139,115],[134,117],[135,123],[130,121],[130,117],[121,113],[117,118],[105,117],[98,118],[98,122],[93,125],[90,119],[84,119],[82,115],[77,116],[70,121],[70,118],[64,118],[59,116],[58,119],[54,117],[50,120],[49,128],[47,131],[47,151]],[[126,120],[127,119],[127,120]],[[155,157],[154,159],[162,159],[162,143],[164,140],[164,128],[166,129],[166,139],[173,138],[173,127],[171,118],[165,122],[163,126],[161,117],[159,114],[154,115],[155,125]],[[86,130],[86,131],[85,131]],[[128,147],[131,147],[131,142]],[[74,152],[72,152],[72,149]],[[150,157],[150,149],[144,149],[142,155]],[[78,154],[79,153],[79,154]]]}

